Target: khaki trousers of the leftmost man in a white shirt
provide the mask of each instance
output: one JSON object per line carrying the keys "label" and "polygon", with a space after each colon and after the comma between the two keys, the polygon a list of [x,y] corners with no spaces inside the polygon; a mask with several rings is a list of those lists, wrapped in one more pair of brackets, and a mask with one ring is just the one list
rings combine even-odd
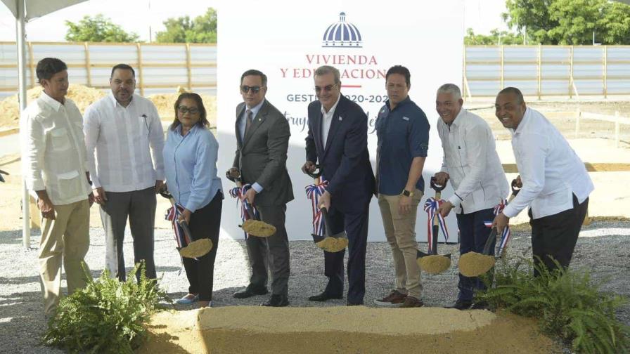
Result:
{"label": "khaki trousers of the leftmost man in a white shirt", "polygon": [[81,263],[90,244],[90,206],[87,199],[54,205],[53,208],[56,218],[44,218],[39,244],[39,275],[46,315],[51,315],[59,303],[62,261],[68,294],[85,287],[86,278]]}

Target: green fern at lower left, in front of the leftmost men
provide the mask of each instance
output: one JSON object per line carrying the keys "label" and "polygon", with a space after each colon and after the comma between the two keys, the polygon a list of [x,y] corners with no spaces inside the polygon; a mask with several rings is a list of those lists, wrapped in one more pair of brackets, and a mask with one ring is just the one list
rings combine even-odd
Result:
{"label": "green fern at lower left, in front of the leftmost men", "polygon": [[136,264],[125,282],[110,278],[107,270],[96,281],[87,272],[86,277],[85,289],[61,299],[43,343],[70,353],[133,353],[160,300],[169,301],[166,293],[145,276],[144,263]]}

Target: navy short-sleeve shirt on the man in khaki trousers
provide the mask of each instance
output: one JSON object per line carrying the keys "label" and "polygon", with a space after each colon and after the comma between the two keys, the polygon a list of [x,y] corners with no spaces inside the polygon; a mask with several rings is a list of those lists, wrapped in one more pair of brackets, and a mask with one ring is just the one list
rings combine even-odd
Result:
{"label": "navy short-sleeve shirt on the man in khaki trousers", "polygon": [[[383,105],[376,119],[379,193],[399,195],[404,190],[413,158],[427,156],[429,129],[425,112],[409,96],[394,110],[390,101]],[[424,192],[422,177],[416,188]]]}

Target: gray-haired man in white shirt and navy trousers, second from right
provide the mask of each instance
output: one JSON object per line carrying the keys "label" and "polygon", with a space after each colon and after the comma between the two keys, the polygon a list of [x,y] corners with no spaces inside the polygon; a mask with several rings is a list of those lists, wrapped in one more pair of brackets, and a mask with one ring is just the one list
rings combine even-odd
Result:
{"label": "gray-haired man in white shirt and navy trousers, second from right", "polygon": [[[494,219],[494,206],[508,194],[508,181],[490,126],[462,105],[461,91],[456,85],[444,84],[437,89],[435,108],[440,117],[437,133],[442,140],[444,159],[435,178],[439,185],[451,181],[455,190],[438,212],[447,216],[451,209],[456,209],[460,254],[481,253],[491,230],[484,222]],[[460,273],[457,287],[458,298],[451,308],[465,310],[475,306],[473,293],[484,289],[484,284],[478,277]]]}

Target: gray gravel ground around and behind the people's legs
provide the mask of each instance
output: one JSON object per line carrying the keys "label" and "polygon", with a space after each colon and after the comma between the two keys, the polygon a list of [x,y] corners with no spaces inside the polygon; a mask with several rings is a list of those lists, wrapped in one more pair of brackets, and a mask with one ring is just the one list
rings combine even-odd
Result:
{"label": "gray gravel ground around and behind the people's legs", "polygon": [[[91,245],[86,261],[96,277],[103,270],[104,236],[101,228],[92,228]],[[127,235],[127,240],[131,237]],[[572,261],[572,268],[590,269],[596,280],[608,280],[606,291],[630,297],[630,222],[597,222],[584,227]],[[33,249],[22,248],[21,232],[0,231],[0,353],[62,353],[60,350],[39,346],[45,323],[37,273],[37,245],[39,234],[32,237]],[[131,265],[131,242],[124,245],[127,265]],[[219,240],[214,273],[214,306],[257,305],[267,298],[233,299],[234,291],[248,282],[248,263],[243,240]],[[426,244],[420,244],[425,249]],[[186,294],[188,282],[179,258],[174,251],[170,230],[156,230],[155,263],[161,286],[173,299]],[[453,254],[451,268],[441,275],[423,274],[425,306],[446,306],[456,297],[458,254],[457,245],[439,245],[439,253]],[[319,293],[326,284],[323,276],[323,254],[307,241],[290,242],[291,277],[290,306],[343,306],[345,299],[312,303],[307,297]],[[514,232],[510,241],[511,254],[531,256],[527,232]],[[390,248],[385,242],[368,243],[366,269],[366,306],[392,289],[394,271]],[[130,268],[129,268],[130,269]],[[65,290],[65,280],[62,283]],[[182,307],[182,309],[188,309]],[[630,325],[630,305],[617,313],[620,320]]]}

